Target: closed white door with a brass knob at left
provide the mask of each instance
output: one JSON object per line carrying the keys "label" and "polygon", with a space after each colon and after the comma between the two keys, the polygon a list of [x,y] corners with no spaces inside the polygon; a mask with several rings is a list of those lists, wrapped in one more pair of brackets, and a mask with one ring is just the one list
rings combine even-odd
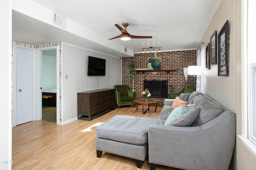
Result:
{"label": "closed white door with a brass knob at left", "polygon": [[33,53],[17,47],[16,125],[33,120]]}

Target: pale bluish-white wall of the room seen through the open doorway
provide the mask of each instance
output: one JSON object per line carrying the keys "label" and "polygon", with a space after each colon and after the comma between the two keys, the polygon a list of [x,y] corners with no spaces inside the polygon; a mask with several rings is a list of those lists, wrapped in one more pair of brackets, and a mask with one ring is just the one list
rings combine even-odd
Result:
{"label": "pale bluish-white wall of the room seen through the open doorway", "polygon": [[57,89],[56,62],[56,56],[44,55],[42,51],[42,90]]}

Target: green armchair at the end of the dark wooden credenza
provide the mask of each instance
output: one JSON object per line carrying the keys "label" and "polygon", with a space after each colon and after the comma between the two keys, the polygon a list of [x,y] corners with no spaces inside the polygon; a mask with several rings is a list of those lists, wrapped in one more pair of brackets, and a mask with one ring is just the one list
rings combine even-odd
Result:
{"label": "green armchair at the end of the dark wooden credenza", "polygon": [[134,105],[136,99],[136,92],[130,91],[128,85],[115,85],[116,90],[116,105],[120,109],[121,106]]}

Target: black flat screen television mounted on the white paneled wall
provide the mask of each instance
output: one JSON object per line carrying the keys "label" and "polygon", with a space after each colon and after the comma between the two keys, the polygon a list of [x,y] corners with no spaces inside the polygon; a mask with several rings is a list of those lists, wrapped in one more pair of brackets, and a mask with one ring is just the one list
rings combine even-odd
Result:
{"label": "black flat screen television mounted on the white paneled wall", "polygon": [[105,75],[106,59],[88,56],[88,76]]}

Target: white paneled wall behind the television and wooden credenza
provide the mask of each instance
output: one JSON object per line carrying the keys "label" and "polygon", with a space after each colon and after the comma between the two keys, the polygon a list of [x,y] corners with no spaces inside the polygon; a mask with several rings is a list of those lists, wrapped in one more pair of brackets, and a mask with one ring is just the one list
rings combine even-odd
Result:
{"label": "white paneled wall behind the television and wooden credenza", "polygon": [[[106,59],[106,76],[87,76],[88,55]],[[62,123],[77,118],[77,93],[121,84],[121,59],[62,44]],[[65,79],[66,74],[68,79]]]}

